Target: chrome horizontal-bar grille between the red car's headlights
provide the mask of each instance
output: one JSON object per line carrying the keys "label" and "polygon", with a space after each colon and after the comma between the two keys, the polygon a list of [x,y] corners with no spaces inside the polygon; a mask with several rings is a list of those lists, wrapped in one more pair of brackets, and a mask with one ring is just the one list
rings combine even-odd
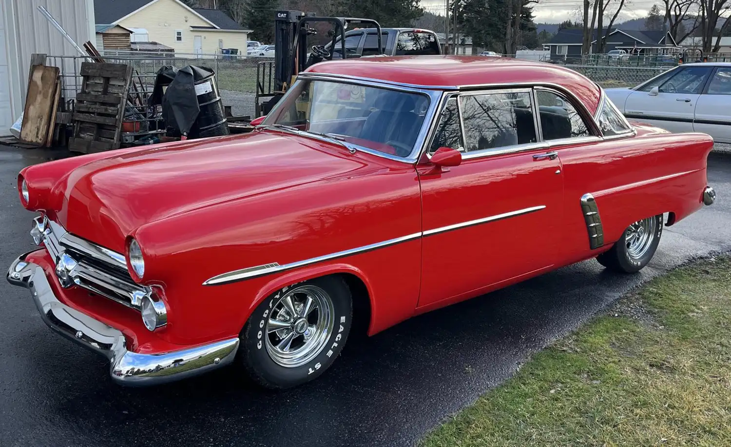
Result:
{"label": "chrome horizontal-bar grille between the red car's headlights", "polygon": [[[38,219],[41,218],[37,218],[37,224]],[[124,255],[77,237],[48,218],[42,219],[42,241],[56,266],[61,286],[80,286],[140,310],[143,297],[151,290],[132,280]]]}

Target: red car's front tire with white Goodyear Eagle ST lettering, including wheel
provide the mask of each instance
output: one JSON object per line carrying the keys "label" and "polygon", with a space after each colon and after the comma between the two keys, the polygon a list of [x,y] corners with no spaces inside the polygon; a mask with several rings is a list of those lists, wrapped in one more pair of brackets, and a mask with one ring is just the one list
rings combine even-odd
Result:
{"label": "red car's front tire with white Goodyear Eagle ST lettering, including wheel", "polygon": [[257,383],[285,389],[314,380],[343,349],[352,298],[338,276],[284,287],[265,299],[241,332],[244,367]]}

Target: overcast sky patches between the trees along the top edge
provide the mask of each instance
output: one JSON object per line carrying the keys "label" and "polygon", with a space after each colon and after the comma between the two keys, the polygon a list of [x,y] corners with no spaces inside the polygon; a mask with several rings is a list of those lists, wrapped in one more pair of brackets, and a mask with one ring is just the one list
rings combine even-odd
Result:
{"label": "overcast sky patches between the trees along the top edge", "polygon": [[[645,17],[653,4],[662,4],[662,1],[632,0],[627,1],[624,9],[617,18],[618,21]],[[559,23],[564,20],[581,18],[582,0],[540,0],[533,8],[536,22]],[[421,0],[421,5],[429,12],[444,15],[444,0]]]}

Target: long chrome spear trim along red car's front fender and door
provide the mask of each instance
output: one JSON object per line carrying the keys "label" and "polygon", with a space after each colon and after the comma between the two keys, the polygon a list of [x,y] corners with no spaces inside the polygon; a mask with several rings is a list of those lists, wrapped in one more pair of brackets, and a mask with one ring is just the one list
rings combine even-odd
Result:
{"label": "long chrome spear trim along red car's front fender and door", "polygon": [[361,247],[351,248],[350,250],[338,251],[336,253],[330,253],[323,256],[317,256],[315,258],[305,259],[303,261],[290,262],[289,264],[270,262],[269,264],[262,264],[254,267],[245,267],[243,269],[232,270],[231,272],[221,273],[221,275],[216,275],[213,278],[209,278],[208,280],[205,280],[203,282],[203,286],[221,286],[224,284],[235,283],[242,280],[259,278],[260,276],[271,275],[273,273],[284,272],[299,267],[306,267],[311,264],[317,264],[318,262],[330,261],[330,259],[344,258],[346,256],[374,251],[379,248],[389,247],[390,245],[396,245],[400,244],[401,242],[407,242],[409,240],[428,237],[434,234],[451,232],[455,229],[462,229],[468,226],[487,224],[488,222],[500,221],[502,219],[512,218],[518,215],[534,213],[543,209],[545,209],[545,205],[537,205],[534,207],[523,208],[522,210],[509,211],[507,213],[501,213],[491,215],[485,218],[474,219],[473,221],[459,222],[458,224],[440,226],[439,228],[431,230],[407,234],[406,236],[395,237],[394,239],[376,242],[369,245],[363,245]]}

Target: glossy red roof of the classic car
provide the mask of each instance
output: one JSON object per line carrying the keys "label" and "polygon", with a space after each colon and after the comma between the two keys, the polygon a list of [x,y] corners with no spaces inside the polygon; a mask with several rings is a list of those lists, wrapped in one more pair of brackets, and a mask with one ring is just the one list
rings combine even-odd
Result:
{"label": "glossy red roof of the classic car", "polygon": [[543,62],[478,56],[386,56],[323,61],[306,72],[452,90],[487,84],[558,85],[594,113],[601,89],[579,73]]}

